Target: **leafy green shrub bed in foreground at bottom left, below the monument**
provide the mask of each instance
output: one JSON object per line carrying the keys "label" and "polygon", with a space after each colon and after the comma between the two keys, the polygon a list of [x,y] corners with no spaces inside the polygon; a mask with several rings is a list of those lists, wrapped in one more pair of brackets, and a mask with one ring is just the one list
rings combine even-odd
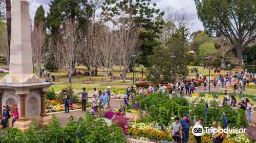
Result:
{"label": "leafy green shrub bed in foreground at bottom left, below the monument", "polygon": [[[60,127],[56,116],[52,121],[39,129],[32,121],[25,133],[17,128],[7,128],[0,132],[0,142],[126,142],[123,131],[116,124],[108,126],[102,118],[95,120],[91,113],[75,120],[73,115],[65,127]],[[80,132],[80,137],[78,133]]]}

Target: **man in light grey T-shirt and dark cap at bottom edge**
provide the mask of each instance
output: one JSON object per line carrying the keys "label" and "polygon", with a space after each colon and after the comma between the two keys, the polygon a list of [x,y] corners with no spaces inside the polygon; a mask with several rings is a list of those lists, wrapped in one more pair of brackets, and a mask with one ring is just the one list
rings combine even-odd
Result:
{"label": "man in light grey T-shirt and dark cap at bottom edge", "polygon": [[178,116],[174,117],[174,123],[170,125],[170,138],[177,143],[181,143],[182,139],[182,126],[180,124],[180,118]]}

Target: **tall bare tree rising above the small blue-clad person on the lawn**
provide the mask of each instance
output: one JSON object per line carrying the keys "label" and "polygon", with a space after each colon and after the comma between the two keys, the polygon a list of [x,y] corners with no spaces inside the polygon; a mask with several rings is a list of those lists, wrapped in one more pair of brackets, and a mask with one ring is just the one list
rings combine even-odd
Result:
{"label": "tall bare tree rising above the small blue-clad person on the lawn", "polygon": [[75,71],[75,64],[78,58],[78,36],[77,36],[77,23],[75,20],[67,20],[61,30],[62,41],[62,59],[68,67],[68,75],[71,77]]}

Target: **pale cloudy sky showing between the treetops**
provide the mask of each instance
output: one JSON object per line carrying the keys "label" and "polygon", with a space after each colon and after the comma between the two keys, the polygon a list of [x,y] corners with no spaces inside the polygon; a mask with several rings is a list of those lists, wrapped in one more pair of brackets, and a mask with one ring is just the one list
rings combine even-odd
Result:
{"label": "pale cloudy sky showing between the treetops", "polygon": [[[189,15],[193,16],[193,20],[191,21],[191,25],[189,26],[190,33],[204,29],[202,22],[197,17],[197,10],[194,0],[152,0],[152,2],[156,3],[156,8],[160,9],[161,11],[164,11],[164,9],[168,7],[173,10],[185,9]],[[40,5],[44,7],[46,11],[45,15],[47,15],[47,12],[49,12],[49,3],[50,0],[32,0],[30,6],[31,17],[33,18],[35,16],[36,9]]]}

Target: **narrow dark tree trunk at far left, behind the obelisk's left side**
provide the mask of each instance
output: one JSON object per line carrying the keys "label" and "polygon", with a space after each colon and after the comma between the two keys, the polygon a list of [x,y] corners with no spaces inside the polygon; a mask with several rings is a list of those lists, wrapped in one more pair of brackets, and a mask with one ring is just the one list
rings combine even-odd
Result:
{"label": "narrow dark tree trunk at far left, behind the obelisk's left side", "polygon": [[11,24],[12,24],[11,0],[6,0],[6,19],[7,19],[7,38],[8,38],[8,47],[9,47],[9,61],[8,61],[8,63],[10,63]]}

